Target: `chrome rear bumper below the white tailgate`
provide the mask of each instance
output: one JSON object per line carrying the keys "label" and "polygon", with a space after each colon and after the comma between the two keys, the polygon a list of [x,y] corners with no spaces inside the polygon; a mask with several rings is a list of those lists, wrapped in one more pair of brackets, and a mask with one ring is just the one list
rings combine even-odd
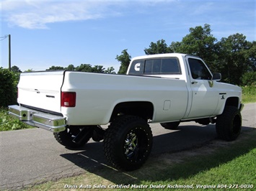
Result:
{"label": "chrome rear bumper below the white tailgate", "polygon": [[52,132],[60,132],[66,129],[66,118],[40,111],[32,110],[22,106],[9,106],[9,114],[20,121],[37,126]]}

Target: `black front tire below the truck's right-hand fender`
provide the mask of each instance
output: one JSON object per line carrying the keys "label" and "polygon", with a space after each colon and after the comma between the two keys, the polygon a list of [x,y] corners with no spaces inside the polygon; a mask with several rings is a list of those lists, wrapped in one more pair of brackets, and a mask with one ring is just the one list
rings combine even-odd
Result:
{"label": "black front tire below the truck's right-hand fender", "polygon": [[220,139],[234,141],[242,129],[242,116],[238,108],[226,106],[223,113],[217,116],[216,132]]}

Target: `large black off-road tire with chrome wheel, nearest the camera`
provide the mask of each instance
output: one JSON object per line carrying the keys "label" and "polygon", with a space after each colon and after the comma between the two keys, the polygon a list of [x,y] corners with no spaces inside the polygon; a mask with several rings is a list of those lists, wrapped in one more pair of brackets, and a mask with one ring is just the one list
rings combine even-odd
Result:
{"label": "large black off-road tire with chrome wheel, nearest the camera", "polygon": [[138,116],[120,116],[105,132],[103,149],[110,164],[131,171],[140,168],[151,153],[153,136],[149,124]]}

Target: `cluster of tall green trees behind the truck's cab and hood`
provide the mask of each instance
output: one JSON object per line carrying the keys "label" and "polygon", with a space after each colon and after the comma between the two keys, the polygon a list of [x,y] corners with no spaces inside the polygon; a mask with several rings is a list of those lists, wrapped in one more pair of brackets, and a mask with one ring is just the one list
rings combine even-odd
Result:
{"label": "cluster of tall green trees behind the truck's cab and hood", "polygon": [[256,71],[256,42],[248,42],[243,34],[233,34],[217,42],[209,24],[191,27],[189,32],[182,42],[172,42],[167,47],[161,39],[151,42],[144,52],[146,55],[180,52],[199,56],[213,73],[222,74],[222,81],[237,85],[242,84],[244,73]]}

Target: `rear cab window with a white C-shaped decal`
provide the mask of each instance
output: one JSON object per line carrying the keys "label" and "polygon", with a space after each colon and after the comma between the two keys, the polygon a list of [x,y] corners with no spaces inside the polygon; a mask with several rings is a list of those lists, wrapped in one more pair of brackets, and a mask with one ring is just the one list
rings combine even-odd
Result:
{"label": "rear cab window with a white C-shaped decal", "polygon": [[181,75],[180,62],[177,57],[133,60],[129,75]]}

